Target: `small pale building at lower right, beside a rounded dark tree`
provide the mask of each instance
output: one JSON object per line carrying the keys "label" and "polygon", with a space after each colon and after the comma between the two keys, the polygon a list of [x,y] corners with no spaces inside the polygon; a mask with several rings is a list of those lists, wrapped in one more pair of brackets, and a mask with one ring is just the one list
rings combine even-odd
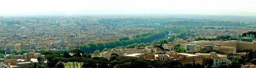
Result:
{"label": "small pale building at lower right, beside a rounded dark tree", "polygon": [[219,65],[221,65],[221,62],[224,62],[226,64],[228,64],[229,62],[227,62],[227,55],[223,55],[223,54],[215,54],[215,52],[211,53],[212,59],[213,59],[213,65],[212,67],[218,67]]}

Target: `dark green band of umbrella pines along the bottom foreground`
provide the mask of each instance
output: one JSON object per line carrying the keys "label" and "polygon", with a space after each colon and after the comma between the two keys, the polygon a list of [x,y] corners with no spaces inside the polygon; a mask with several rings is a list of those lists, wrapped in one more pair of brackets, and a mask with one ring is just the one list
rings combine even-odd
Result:
{"label": "dark green band of umbrella pines along the bottom foreground", "polygon": [[[143,61],[139,59],[120,59],[118,54],[111,54],[110,58],[91,57],[90,54],[84,54],[80,49],[71,50],[73,56],[64,51],[49,52],[46,51],[47,68],[64,68],[65,66],[73,65],[73,68],[81,66],[81,68],[176,68],[182,66],[180,61],[168,60],[166,64],[159,64],[157,61]],[[43,62],[44,59],[38,58],[38,62]],[[39,63],[40,65],[42,63]],[[203,65],[195,64],[194,67],[203,68]]]}

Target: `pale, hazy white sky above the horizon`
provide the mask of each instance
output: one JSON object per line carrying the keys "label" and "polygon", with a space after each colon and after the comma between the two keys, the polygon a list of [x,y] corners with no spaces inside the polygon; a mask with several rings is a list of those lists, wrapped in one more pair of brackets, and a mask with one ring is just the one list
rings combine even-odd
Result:
{"label": "pale, hazy white sky above the horizon", "polygon": [[0,14],[5,15],[47,11],[74,14],[80,10],[250,15],[256,13],[256,0],[0,0]]}

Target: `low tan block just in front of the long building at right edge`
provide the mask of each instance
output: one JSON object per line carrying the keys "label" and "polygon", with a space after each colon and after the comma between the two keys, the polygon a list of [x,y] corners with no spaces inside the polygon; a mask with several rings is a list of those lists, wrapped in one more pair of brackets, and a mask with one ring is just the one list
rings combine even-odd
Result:
{"label": "low tan block just in front of the long building at right edge", "polygon": [[236,47],[228,47],[228,46],[220,46],[220,45],[215,45],[213,47],[213,50],[219,50],[219,51],[223,51],[226,53],[232,53],[232,54],[236,54]]}

